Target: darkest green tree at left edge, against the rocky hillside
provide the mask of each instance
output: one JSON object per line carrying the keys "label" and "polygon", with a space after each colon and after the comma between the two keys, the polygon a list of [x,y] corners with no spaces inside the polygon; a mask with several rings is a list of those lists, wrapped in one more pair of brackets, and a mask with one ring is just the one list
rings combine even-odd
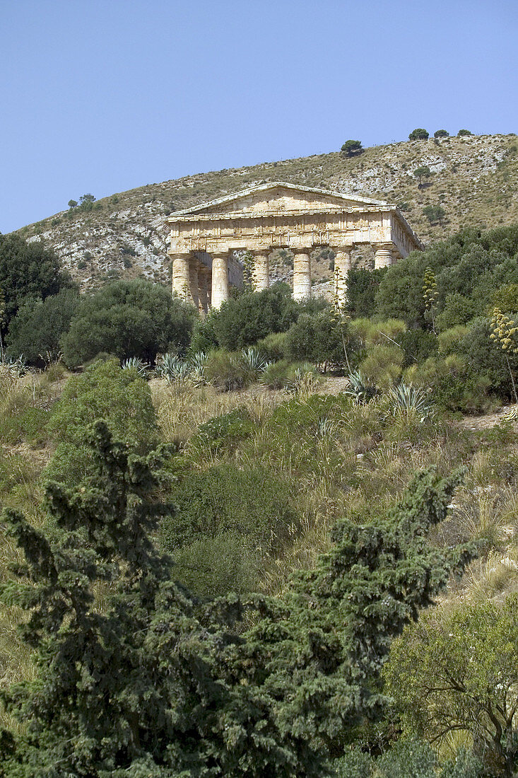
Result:
{"label": "darkest green tree at left edge, against the rocky hillside", "polygon": [[0,234],[0,289],[5,300],[3,328],[9,326],[26,297],[44,300],[70,286],[72,280],[61,270],[58,257],[40,240],[29,244],[18,235]]}

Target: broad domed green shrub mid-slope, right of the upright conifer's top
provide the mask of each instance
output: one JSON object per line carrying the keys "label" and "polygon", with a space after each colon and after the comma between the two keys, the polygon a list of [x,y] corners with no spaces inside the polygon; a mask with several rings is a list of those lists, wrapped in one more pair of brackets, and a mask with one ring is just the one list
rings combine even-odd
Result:
{"label": "broad domed green shrub mid-slope, right of the upright conifer's top", "polygon": [[177,513],[166,517],[159,531],[168,552],[227,534],[248,538],[269,553],[280,548],[298,524],[289,483],[263,467],[240,470],[234,464],[219,464],[190,472],[171,499]]}

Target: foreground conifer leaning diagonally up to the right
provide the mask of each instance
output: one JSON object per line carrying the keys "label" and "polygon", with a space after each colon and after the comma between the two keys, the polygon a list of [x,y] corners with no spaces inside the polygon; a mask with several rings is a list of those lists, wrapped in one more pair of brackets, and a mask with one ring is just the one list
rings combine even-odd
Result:
{"label": "foreground conifer leaning diagonally up to the right", "polygon": [[341,521],[331,552],[297,573],[282,600],[256,599],[257,623],[228,663],[240,677],[242,720],[225,775],[324,776],[355,727],[380,717],[391,641],[474,555],[471,545],[439,549],[426,537],[459,482],[417,475],[384,520]]}

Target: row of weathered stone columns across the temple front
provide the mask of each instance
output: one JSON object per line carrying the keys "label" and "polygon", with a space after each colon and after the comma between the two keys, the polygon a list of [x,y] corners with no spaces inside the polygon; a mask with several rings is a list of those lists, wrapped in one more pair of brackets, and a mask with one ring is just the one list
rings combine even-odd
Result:
{"label": "row of weathered stone columns across the temple front", "polygon": [[[335,294],[338,304],[347,300],[347,276],[352,267],[352,246],[334,249]],[[252,282],[260,292],[270,286],[269,255],[273,250],[254,251]],[[310,248],[293,249],[293,298],[311,296]],[[399,258],[393,244],[374,247],[374,268],[386,268]],[[173,254],[173,292],[194,305],[201,313],[219,308],[229,297],[229,254],[212,254],[212,273],[193,254]]]}

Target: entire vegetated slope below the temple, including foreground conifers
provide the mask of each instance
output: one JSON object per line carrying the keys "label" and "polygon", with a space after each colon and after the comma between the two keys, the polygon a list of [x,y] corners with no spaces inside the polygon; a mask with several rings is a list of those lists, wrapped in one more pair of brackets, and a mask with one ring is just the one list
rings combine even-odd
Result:
{"label": "entire vegetated slope below the temple, including foreground conifers", "polygon": [[513,776],[518,228],[205,320],[24,245],[0,776]]}

